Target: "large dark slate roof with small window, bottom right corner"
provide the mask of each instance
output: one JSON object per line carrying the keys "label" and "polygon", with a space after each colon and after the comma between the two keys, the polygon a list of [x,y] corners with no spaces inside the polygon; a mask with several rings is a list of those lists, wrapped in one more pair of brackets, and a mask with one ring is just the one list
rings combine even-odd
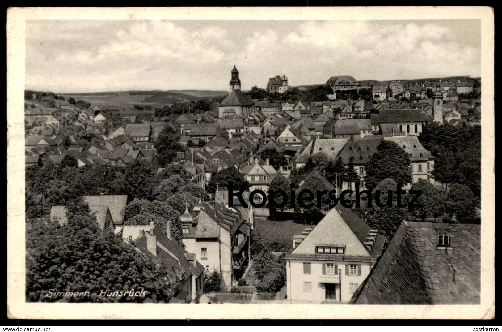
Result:
{"label": "large dark slate roof with small window, bottom right corner", "polygon": [[[449,248],[436,236],[449,235]],[[403,221],[356,304],[479,304],[480,225]]]}

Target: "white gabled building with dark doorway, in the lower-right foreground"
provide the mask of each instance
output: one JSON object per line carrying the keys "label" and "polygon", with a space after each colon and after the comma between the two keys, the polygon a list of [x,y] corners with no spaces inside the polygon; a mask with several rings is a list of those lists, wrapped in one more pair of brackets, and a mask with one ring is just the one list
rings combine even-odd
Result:
{"label": "white gabled building with dark doorway, in the lower-right foreground", "polygon": [[382,254],[385,237],[350,209],[336,206],[312,229],[293,236],[286,255],[292,302],[348,302]]}

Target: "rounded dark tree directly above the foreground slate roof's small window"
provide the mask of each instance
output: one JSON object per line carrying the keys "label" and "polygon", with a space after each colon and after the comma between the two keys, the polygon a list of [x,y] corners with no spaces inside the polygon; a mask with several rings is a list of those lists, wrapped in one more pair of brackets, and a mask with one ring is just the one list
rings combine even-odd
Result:
{"label": "rounded dark tree directly above the foreground slate roof's small window", "polygon": [[457,223],[471,223],[475,218],[476,200],[468,186],[453,184],[446,195],[446,211]]}

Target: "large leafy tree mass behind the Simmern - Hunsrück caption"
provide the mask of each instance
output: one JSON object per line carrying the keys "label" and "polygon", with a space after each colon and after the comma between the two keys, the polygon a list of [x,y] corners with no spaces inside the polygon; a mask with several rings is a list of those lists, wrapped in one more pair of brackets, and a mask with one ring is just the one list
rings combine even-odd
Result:
{"label": "large leafy tree mass behind the Simmern - Hunsr\u00fcck caption", "polygon": [[[174,295],[179,283],[169,285],[165,263],[156,264],[114,234],[100,236],[95,217],[78,205],[64,226],[42,218],[27,223],[28,302],[165,302]],[[50,289],[89,295],[55,296]],[[145,296],[93,295],[105,289],[144,290]]]}

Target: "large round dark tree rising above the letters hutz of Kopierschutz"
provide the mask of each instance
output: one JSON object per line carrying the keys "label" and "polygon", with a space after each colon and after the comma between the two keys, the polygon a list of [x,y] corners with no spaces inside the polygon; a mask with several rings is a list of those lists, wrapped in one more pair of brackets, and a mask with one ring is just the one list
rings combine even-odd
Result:
{"label": "large round dark tree rising above the letters hutz of Kopierschutz", "polygon": [[376,149],[365,166],[366,188],[372,190],[387,178],[393,179],[399,187],[412,181],[410,158],[397,143],[384,140]]}

